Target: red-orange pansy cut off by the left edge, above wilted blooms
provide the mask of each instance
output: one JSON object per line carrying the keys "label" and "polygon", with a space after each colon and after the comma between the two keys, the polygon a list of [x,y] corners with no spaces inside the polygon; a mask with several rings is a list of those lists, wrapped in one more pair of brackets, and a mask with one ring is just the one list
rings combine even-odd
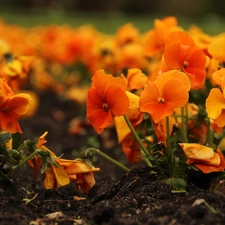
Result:
{"label": "red-orange pansy cut off by the left edge, above wilted blooms", "polygon": [[22,133],[18,119],[29,108],[30,95],[14,94],[8,84],[0,79],[0,129]]}

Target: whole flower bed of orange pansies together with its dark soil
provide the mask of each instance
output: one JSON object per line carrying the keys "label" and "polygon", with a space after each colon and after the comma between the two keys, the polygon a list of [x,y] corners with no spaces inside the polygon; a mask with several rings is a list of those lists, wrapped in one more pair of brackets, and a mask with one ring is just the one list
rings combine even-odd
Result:
{"label": "whole flower bed of orange pansies together with its dark soil", "polygon": [[24,224],[223,222],[223,34],[175,17],[111,36],[0,25],[2,208]]}

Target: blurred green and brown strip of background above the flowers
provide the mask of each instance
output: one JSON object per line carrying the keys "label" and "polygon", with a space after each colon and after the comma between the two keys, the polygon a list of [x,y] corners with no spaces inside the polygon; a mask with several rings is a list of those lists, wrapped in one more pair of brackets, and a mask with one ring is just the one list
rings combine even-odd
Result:
{"label": "blurred green and brown strip of background above the flowers", "polygon": [[195,24],[208,34],[225,28],[224,0],[0,0],[0,18],[22,26],[93,24],[106,33],[115,33],[127,22],[141,32],[152,27],[153,20],[176,16],[188,29]]}

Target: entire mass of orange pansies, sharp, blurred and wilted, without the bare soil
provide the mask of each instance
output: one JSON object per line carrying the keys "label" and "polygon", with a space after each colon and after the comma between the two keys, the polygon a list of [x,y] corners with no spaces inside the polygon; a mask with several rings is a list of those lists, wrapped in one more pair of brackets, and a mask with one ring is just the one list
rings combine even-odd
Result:
{"label": "entire mass of orange pansies, sharp, blurred and wilted, without the bare soil", "polygon": [[[172,189],[184,188],[190,168],[224,173],[224,34],[186,31],[172,16],[154,20],[143,34],[131,23],[114,35],[91,26],[13,26],[14,35],[7,35],[11,29],[0,22],[1,132],[22,133],[20,116],[34,115],[37,93],[52,90],[79,104],[86,100],[94,130],[114,126],[128,160],[144,160]],[[79,133],[74,124],[71,132]],[[6,133],[0,144],[8,160],[0,166],[10,171],[11,157],[21,152],[7,147],[12,136]],[[58,158],[44,146],[45,136],[26,145],[26,161],[35,173],[41,169],[44,186],[75,181],[87,192],[99,169],[87,159]]]}

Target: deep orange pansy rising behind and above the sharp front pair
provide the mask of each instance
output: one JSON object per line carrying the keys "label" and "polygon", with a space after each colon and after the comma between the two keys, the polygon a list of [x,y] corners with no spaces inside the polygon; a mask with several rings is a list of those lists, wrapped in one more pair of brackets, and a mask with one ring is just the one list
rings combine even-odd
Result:
{"label": "deep orange pansy rising behind and above the sharp front pair", "polygon": [[192,89],[203,86],[206,77],[206,55],[185,32],[172,32],[165,40],[162,70],[181,70],[190,79]]}

